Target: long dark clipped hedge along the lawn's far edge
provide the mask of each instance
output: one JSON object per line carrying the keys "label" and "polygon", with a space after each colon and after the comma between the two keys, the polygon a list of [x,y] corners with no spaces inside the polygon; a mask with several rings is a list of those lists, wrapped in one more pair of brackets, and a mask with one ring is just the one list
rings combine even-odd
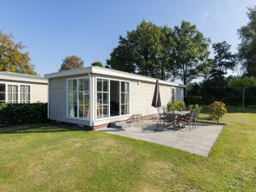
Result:
{"label": "long dark clipped hedge along the lawn's far edge", "polygon": [[[215,99],[213,97],[203,98],[198,96],[188,96],[184,97],[186,105],[210,105],[214,101],[219,100],[226,105],[241,105],[241,97],[225,97],[222,99]],[[256,105],[256,97],[246,97],[245,105]]]}

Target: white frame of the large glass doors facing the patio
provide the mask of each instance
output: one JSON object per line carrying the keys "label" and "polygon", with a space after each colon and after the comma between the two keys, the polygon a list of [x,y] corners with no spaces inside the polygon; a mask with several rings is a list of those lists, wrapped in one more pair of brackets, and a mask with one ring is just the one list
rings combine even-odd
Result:
{"label": "white frame of the large glass doors facing the patio", "polygon": [[[97,109],[98,109],[98,102],[97,102],[97,86],[98,86],[98,79],[103,79],[103,80],[107,80],[108,81],[108,117],[103,117],[103,118],[98,118],[97,115]],[[113,116],[110,117],[110,81],[119,81],[119,116]],[[125,115],[121,115],[121,82],[128,82],[129,83],[129,113],[125,114]],[[106,77],[101,77],[98,76],[95,78],[95,91],[94,91],[94,95],[95,95],[95,119],[96,121],[101,121],[101,120],[106,120],[106,119],[111,119],[111,118],[117,118],[117,117],[127,117],[130,116],[131,114],[131,81],[125,81],[125,80],[120,80],[120,79],[113,79],[113,78],[106,78]]]}

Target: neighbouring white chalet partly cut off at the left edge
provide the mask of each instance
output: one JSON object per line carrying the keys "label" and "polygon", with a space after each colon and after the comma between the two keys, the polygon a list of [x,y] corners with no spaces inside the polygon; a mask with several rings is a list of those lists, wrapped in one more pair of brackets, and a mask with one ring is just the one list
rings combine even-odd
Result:
{"label": "neighbouring white chalet partly cut off at the left edge", "polygon": [[0,103],[47,103],[48,80],[39,75],[0,71]]}

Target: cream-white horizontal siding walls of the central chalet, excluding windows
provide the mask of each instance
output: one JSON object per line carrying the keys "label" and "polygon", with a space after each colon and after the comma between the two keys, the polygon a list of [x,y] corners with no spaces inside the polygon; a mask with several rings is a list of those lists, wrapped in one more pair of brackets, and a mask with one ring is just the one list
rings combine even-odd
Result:
{"label": "cream-white horizontal siding walls of the central chalet, excluding windows", "polygon": [[[72,75],[65,77],[52,78],[49,80],[49,105],[50,105],[50,119],[67,122],[89,125],[87,120],[75,119],[67,117],[67,79],[74,77],[82,77],[86,75]],[[96,78],[107,78],[120,81],[130,81],[130,114],[122,117],[110,117],[107,119],[97,119],[97,104],[96,104]],[[151,106],[153,94],[155,91],[155,83],[147,81],[129,80],[125,78],[115,78],[107,75],[92,75],[91,78],[91,108],[92,108],[92,126],[107,124],[115,121],[122,121],[127,119],[131,114],[142,113],[143,116],[155,114],[157,110]],[[171,86],[160,85],[162,105],[167,105],[171,99]],[[176,100],[183,100],[183,88],[176,88]],[[181,94],[181,95],[180,95]]]}

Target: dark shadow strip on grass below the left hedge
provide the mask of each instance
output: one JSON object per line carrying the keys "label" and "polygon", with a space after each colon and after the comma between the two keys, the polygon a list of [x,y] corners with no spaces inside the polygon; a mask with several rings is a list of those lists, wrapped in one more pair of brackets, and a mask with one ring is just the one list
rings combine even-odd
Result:
{"label": "dark shadow strip on grass below the left hedge", "polygon": [[28,134],[28,133],[56,133],[56,132],[68,132],[68,131],[82,131],[88,129],[79,129],[77,127],[61,127],[53,124],[41,124],[41,125],[26,125],[15,126],[9,128],[0,129],[0,134]]}

